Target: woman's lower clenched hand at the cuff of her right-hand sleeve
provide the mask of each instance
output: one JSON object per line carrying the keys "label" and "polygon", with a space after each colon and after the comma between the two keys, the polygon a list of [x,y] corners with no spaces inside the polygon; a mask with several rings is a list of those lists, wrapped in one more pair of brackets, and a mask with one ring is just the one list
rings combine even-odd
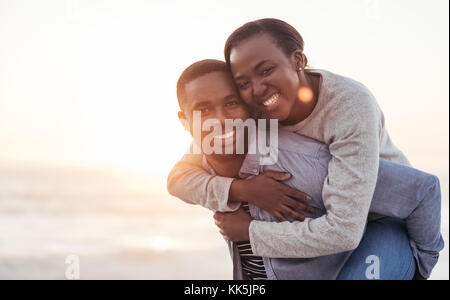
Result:
{"label": "woman's lower clenched hand at the cuff of her right-hand sleeve", "polygon": [[249,228],[253,219],[242,207],[235,212],[216,212],[214,219],[220,233],[227,240],[233,242],[250,240]]}

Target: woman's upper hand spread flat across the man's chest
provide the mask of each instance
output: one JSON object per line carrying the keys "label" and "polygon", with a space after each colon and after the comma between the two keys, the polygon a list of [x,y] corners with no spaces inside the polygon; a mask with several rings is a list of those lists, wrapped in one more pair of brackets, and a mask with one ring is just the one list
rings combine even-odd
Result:
{"label": "woman's upper hand spread flat across the man's chest", "polygon": [[289,178],[290,174],[269,171],[249,180],[234,180],[230,188],[230,199],[258,206],[280,221],[287,221],[288,216],[304,221],[305,216],[295,210],[312,212],[314,209],[295,199],[312,199],[280,182]]}

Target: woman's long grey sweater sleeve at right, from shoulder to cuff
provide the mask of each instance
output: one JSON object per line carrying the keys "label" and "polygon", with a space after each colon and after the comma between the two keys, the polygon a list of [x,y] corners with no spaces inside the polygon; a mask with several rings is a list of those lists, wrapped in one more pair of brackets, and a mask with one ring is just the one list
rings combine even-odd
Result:
{"label": "woman's long grey sweater sleeve at right, from shoulder to cuff", "polygon": [[[379,165],[381,111],[371,95],[328,115],[325,142],[332,156],[322,198],[327,213],[303,222],[250,224],[255,255],[307,258],[355,249],[363,236]],[[328,141],[327,141],[328,139]]]}

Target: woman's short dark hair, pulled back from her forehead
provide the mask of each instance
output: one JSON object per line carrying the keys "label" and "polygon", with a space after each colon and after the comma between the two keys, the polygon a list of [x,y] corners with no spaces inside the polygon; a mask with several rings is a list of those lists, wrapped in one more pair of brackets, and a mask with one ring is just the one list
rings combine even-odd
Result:
{"label": "woman's short dark hair, pulled back from her forehead", "polygon": [[[257,35],[267,33],[272,37],[275,44],[289,57],[294,51],[303,53],[303,38],[298,31],[288,23],[278,19],[259,19],[248,22],[236,29],[225,43],[225,61],[230,65],[231,50],[243,41]],[[303,54],[305,66],[308,59]]]}

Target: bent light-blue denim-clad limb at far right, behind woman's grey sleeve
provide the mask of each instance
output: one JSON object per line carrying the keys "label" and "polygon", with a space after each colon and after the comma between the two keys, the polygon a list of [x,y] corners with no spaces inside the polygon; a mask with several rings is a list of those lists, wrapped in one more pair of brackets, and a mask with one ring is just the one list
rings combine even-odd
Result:
{"label": "bent light-blue denim-clad limb at far right, behind woman's grey sleeve", "polygon": [[431,174],[380,159],[370,212],[405,220],[416,272],[428,278],[444,248],[441,188]]}

